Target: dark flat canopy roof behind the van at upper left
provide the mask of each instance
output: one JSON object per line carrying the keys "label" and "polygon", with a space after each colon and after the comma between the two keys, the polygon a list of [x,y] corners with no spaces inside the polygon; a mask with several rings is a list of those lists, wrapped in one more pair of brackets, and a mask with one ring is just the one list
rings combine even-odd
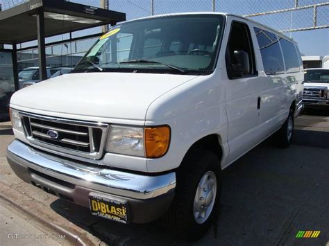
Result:
{"label": "dark flat canopy roof behind the van at upper left", "polygon": [[37,39],[38,16],[44,22],[44,37],[126,20],[122,12],[62,0],[31,0],[0,12],[0,43],[19,44]]}

